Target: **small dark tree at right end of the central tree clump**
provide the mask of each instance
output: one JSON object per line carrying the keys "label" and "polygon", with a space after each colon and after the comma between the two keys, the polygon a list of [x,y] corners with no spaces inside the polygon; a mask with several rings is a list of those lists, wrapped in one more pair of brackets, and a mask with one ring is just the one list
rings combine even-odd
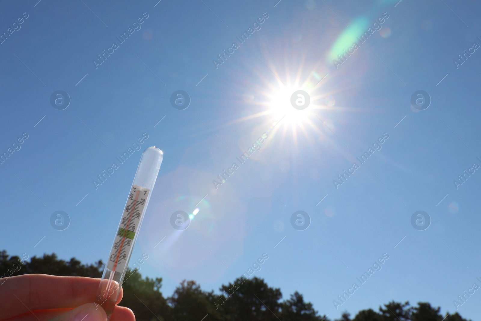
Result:
{"label": "small dark tree at right end of the central tree clump", "polygon": [[[320,318],[312,303],[304,302],[304,297],[299,292],[291,294],[291,298],[281,304],[281,320],[296,321],[321,321],[326,316]],[[325,320],[326,321],[326,320]]]}

